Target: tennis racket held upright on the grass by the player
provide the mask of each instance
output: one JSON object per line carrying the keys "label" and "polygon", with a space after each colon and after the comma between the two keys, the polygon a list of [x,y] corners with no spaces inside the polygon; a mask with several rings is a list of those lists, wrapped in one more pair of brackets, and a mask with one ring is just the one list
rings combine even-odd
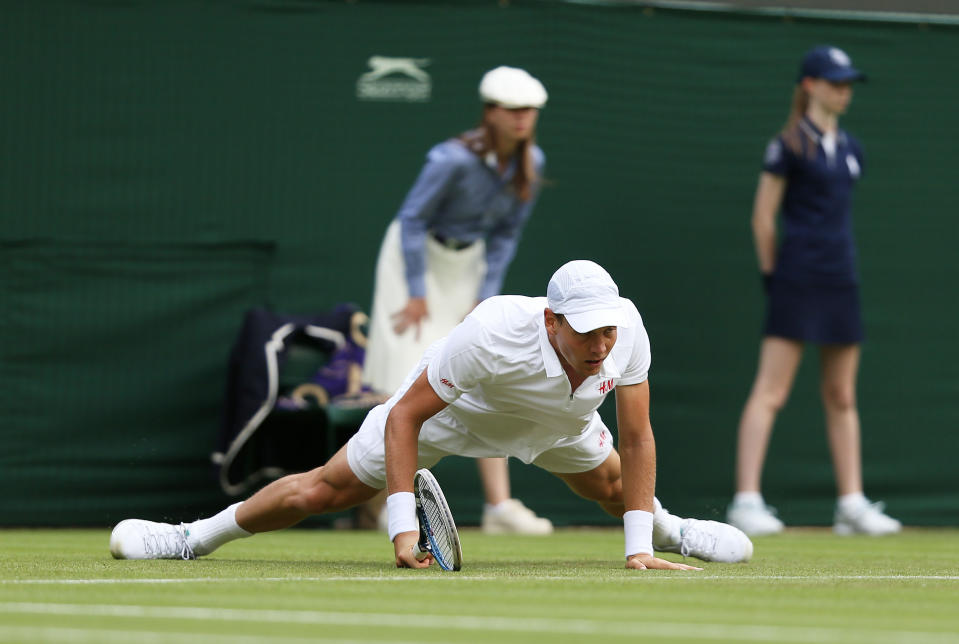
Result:
{"label": "tennis racket held upright on the grass by the player", "polygon": [[443,570],[459,570],[463,565],[460,535],[443,490],[432,472],[427,469],[416,472],[413,496],[420,520],[420,539],[413,549],[417,558],[431,554]]}

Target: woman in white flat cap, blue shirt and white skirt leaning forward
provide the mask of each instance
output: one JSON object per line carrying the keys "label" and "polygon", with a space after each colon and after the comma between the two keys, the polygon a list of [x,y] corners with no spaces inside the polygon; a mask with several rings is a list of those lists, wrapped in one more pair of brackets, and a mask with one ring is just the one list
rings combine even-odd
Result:
{"label": "woman in white flat cap, blue shirt and white skirt leaning forward", "polygon": [[[387,228],[376,264],[364,382],[393,393],[430,344],[497,295],[541,185],[535,143],[546,89],[497,67],[480,82],[479,126],[435,145]],[[547,534],[552,524],[510,498],[505,459],[480,459],[487,532]]]}

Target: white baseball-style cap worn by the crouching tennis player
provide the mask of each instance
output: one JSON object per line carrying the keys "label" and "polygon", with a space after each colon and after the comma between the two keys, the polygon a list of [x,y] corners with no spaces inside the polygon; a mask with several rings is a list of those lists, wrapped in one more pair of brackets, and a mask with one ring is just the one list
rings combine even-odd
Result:
{"label": "white baseball-style cap worn by the crouching tennis player", "polygon": [[559,267],[546,287],[546,305],[579,333],[604,326],[629,326],[619,287],[602,266],[577,259]]}

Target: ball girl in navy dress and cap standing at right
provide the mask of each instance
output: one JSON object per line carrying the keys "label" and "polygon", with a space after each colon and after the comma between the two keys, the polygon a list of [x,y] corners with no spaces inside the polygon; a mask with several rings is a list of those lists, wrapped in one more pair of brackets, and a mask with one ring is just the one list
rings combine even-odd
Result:
{"label": "ball girl in navy dress and cap standing at right", "polygon": [[[783,523],[760,479],[776,415],[792,388],[805,343],[819,345],[838,500],[838,534],[888,534],[901,524],[863,495],[856,374],[863,338],[852,231],[852,190],[863,172],[859,143],[839,128],[864,79],[836,47],[806,53],[782,133],[766,149],[753,206],[753,233],[766,289],[759,369],[739,424],[736,496],[728,520],[750,535]],[[783,232],[776,246],[776,215]]]}

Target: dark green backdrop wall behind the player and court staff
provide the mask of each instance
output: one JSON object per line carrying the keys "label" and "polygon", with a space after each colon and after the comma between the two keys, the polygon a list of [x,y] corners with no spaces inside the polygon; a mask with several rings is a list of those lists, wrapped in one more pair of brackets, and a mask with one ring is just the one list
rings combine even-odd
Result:
{"label": "dark green backdrop wall behind the player and court staff", "polygon": [[[479,77],[499,64],[550,92],[550,183],[506,290],[541,294],[572,258],[610,270],[652,341],[660,496],[722,514],[762,315],[752,194],[798,58],[823,42],[870,74],[845,120],[868,164],[867,493],[908,523],[959,520],[956,27],[522,1],[0,11],[0,524],[227,502],[208,456],[243,312],[366,308],[425,151],[476,121]],[[422,79],[364,84],[371,56],[427,59],[428,100],[409,100]],[[810,351],[765,475],[793,524],[831,521],[816,380]],[[437,471],[476,521],[472,464]],[[513,475],[557,523],[609,522],[543,472]]]}

